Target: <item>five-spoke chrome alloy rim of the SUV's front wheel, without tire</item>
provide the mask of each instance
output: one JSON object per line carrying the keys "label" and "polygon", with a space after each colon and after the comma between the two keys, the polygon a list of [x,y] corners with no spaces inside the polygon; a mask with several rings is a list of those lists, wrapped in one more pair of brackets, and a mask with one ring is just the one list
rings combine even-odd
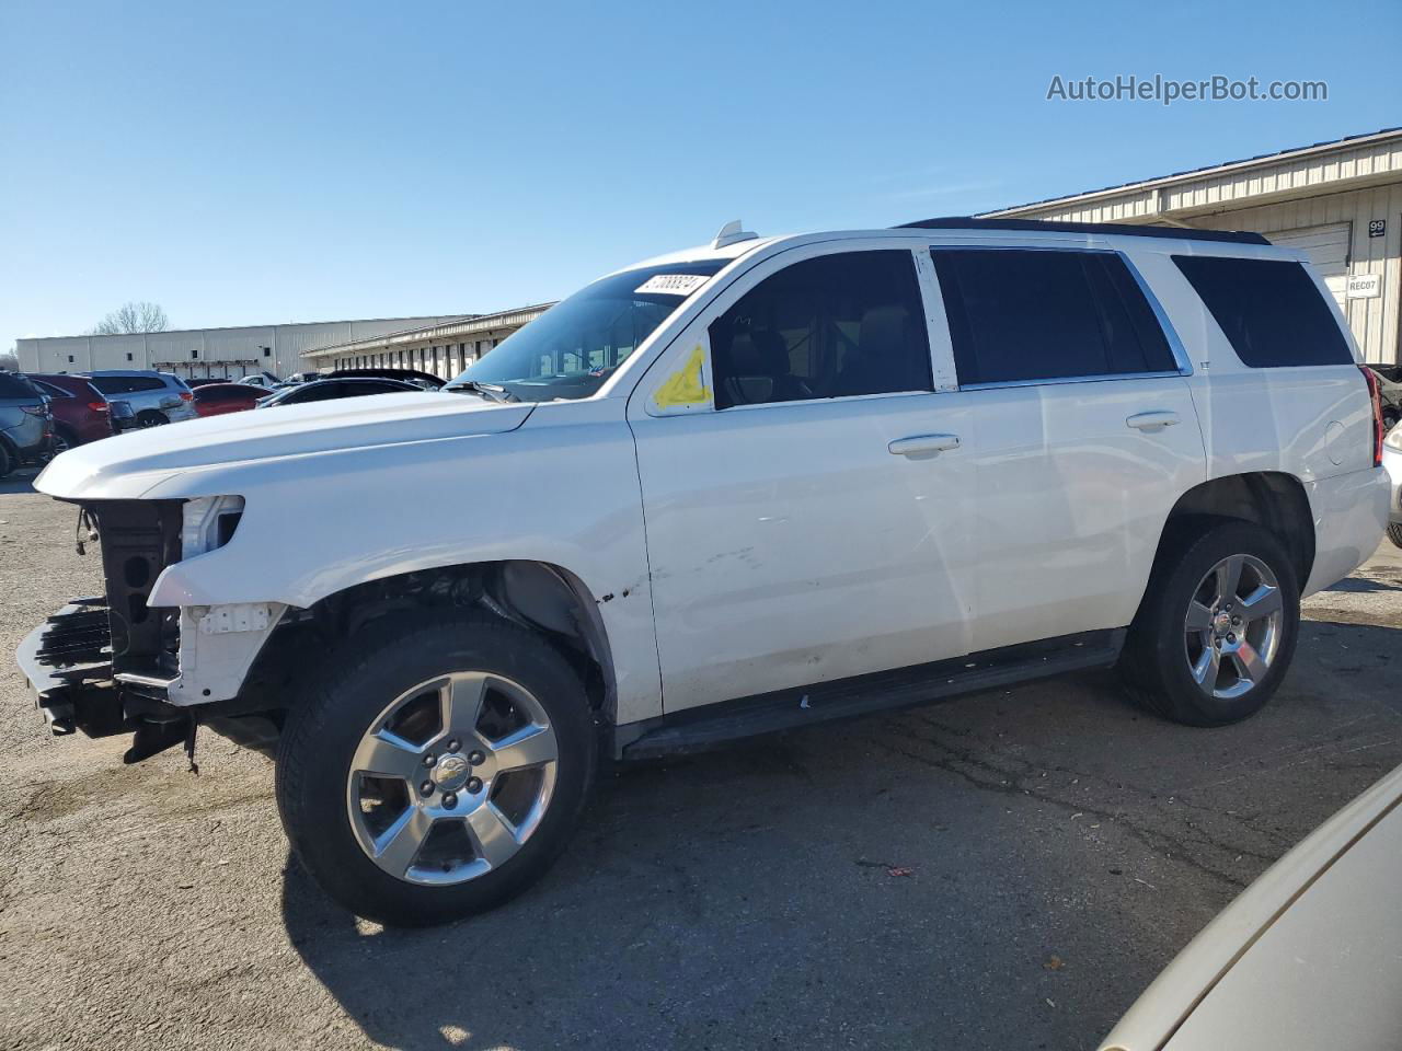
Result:
{"label": "five-spoke chrome alloy rim of the SUV's front wheel, without tire", "polygon": [[346,806],[360,849],[408,883],[465,883],[536,831],[559,750],[544,706],[501,675],[460,671],[397,696],[350,760]]}

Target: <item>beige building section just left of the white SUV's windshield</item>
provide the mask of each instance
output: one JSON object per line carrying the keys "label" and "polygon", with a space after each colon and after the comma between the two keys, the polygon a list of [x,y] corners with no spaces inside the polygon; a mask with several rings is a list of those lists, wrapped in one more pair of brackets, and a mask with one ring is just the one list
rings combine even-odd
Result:
{"label": "beige building section just left of the white SUV's windshield", "polygon": [[544,314],[550,303],[475,314],[446,324],[350,339],[308,350],[303,369],[418,369],[450,380],[506,336]]}

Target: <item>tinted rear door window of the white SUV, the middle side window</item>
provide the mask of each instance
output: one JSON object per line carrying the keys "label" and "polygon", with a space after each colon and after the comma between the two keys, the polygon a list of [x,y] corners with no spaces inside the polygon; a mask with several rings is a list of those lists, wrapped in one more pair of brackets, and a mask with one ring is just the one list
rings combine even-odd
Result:
{"label": "tinted rear door window of the white SUV, the middle side window", "polygon": [[963,385],[1178,369],[1113,252],[935,248],[931,256]]}

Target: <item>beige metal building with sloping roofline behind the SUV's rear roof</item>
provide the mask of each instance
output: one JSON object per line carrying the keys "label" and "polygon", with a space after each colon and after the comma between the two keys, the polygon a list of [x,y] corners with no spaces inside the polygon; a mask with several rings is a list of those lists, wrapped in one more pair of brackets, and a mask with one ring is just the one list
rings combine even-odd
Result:
{"label": "beige metal building with sloping roofline behind the SUV's rear roof", "polygon": [[1304,249],[1368,362],[1402,363],[1402,129],[1225,161],[986,216],[1252,230]]}

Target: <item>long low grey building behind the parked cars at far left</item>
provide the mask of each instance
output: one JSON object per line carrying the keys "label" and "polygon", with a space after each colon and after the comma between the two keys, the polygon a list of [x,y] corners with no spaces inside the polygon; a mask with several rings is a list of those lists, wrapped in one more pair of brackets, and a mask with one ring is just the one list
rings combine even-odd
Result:
{"label": "long low grey building behind the parked cars at far left", "polygon": [[327,343],[400,332],[415,325],[460,320],[463,314],[321,321],[304,325],[247,325],[192,328],[175,332],[137,332],[116,336],[55,336],[17,339],[20,370],[27,373],[87,373],[95,369],[158,369],[177,376],[240,376],[268,370],[273,376],[315,366],[303,355]]}

